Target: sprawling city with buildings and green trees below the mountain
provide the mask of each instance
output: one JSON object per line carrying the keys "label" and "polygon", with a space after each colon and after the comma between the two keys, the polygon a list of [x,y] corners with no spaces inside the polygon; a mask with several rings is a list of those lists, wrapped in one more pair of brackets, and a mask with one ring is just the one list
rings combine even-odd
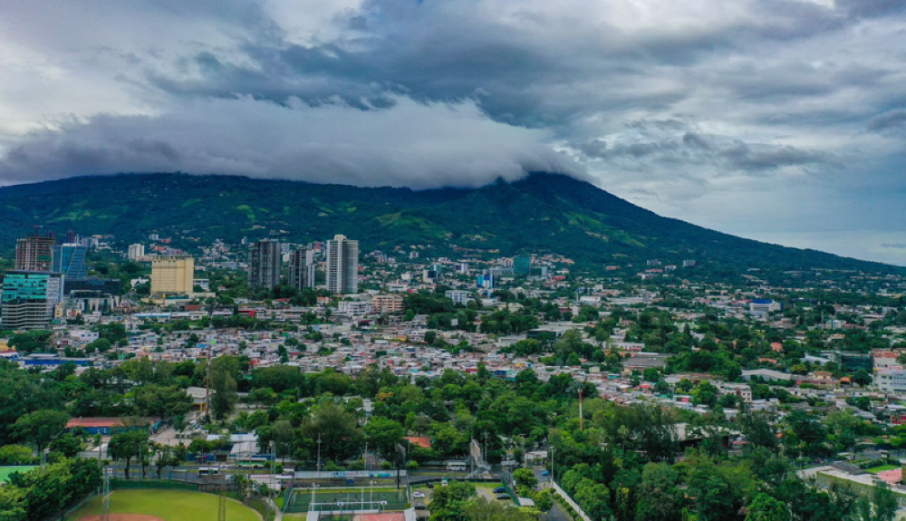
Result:
{"label": "sprawling city with buildings and green trees below the mountain", "polygon": [[906,507],[900,275],[324,238],[3,246],[0,519],[153,487],[265,519]]}

